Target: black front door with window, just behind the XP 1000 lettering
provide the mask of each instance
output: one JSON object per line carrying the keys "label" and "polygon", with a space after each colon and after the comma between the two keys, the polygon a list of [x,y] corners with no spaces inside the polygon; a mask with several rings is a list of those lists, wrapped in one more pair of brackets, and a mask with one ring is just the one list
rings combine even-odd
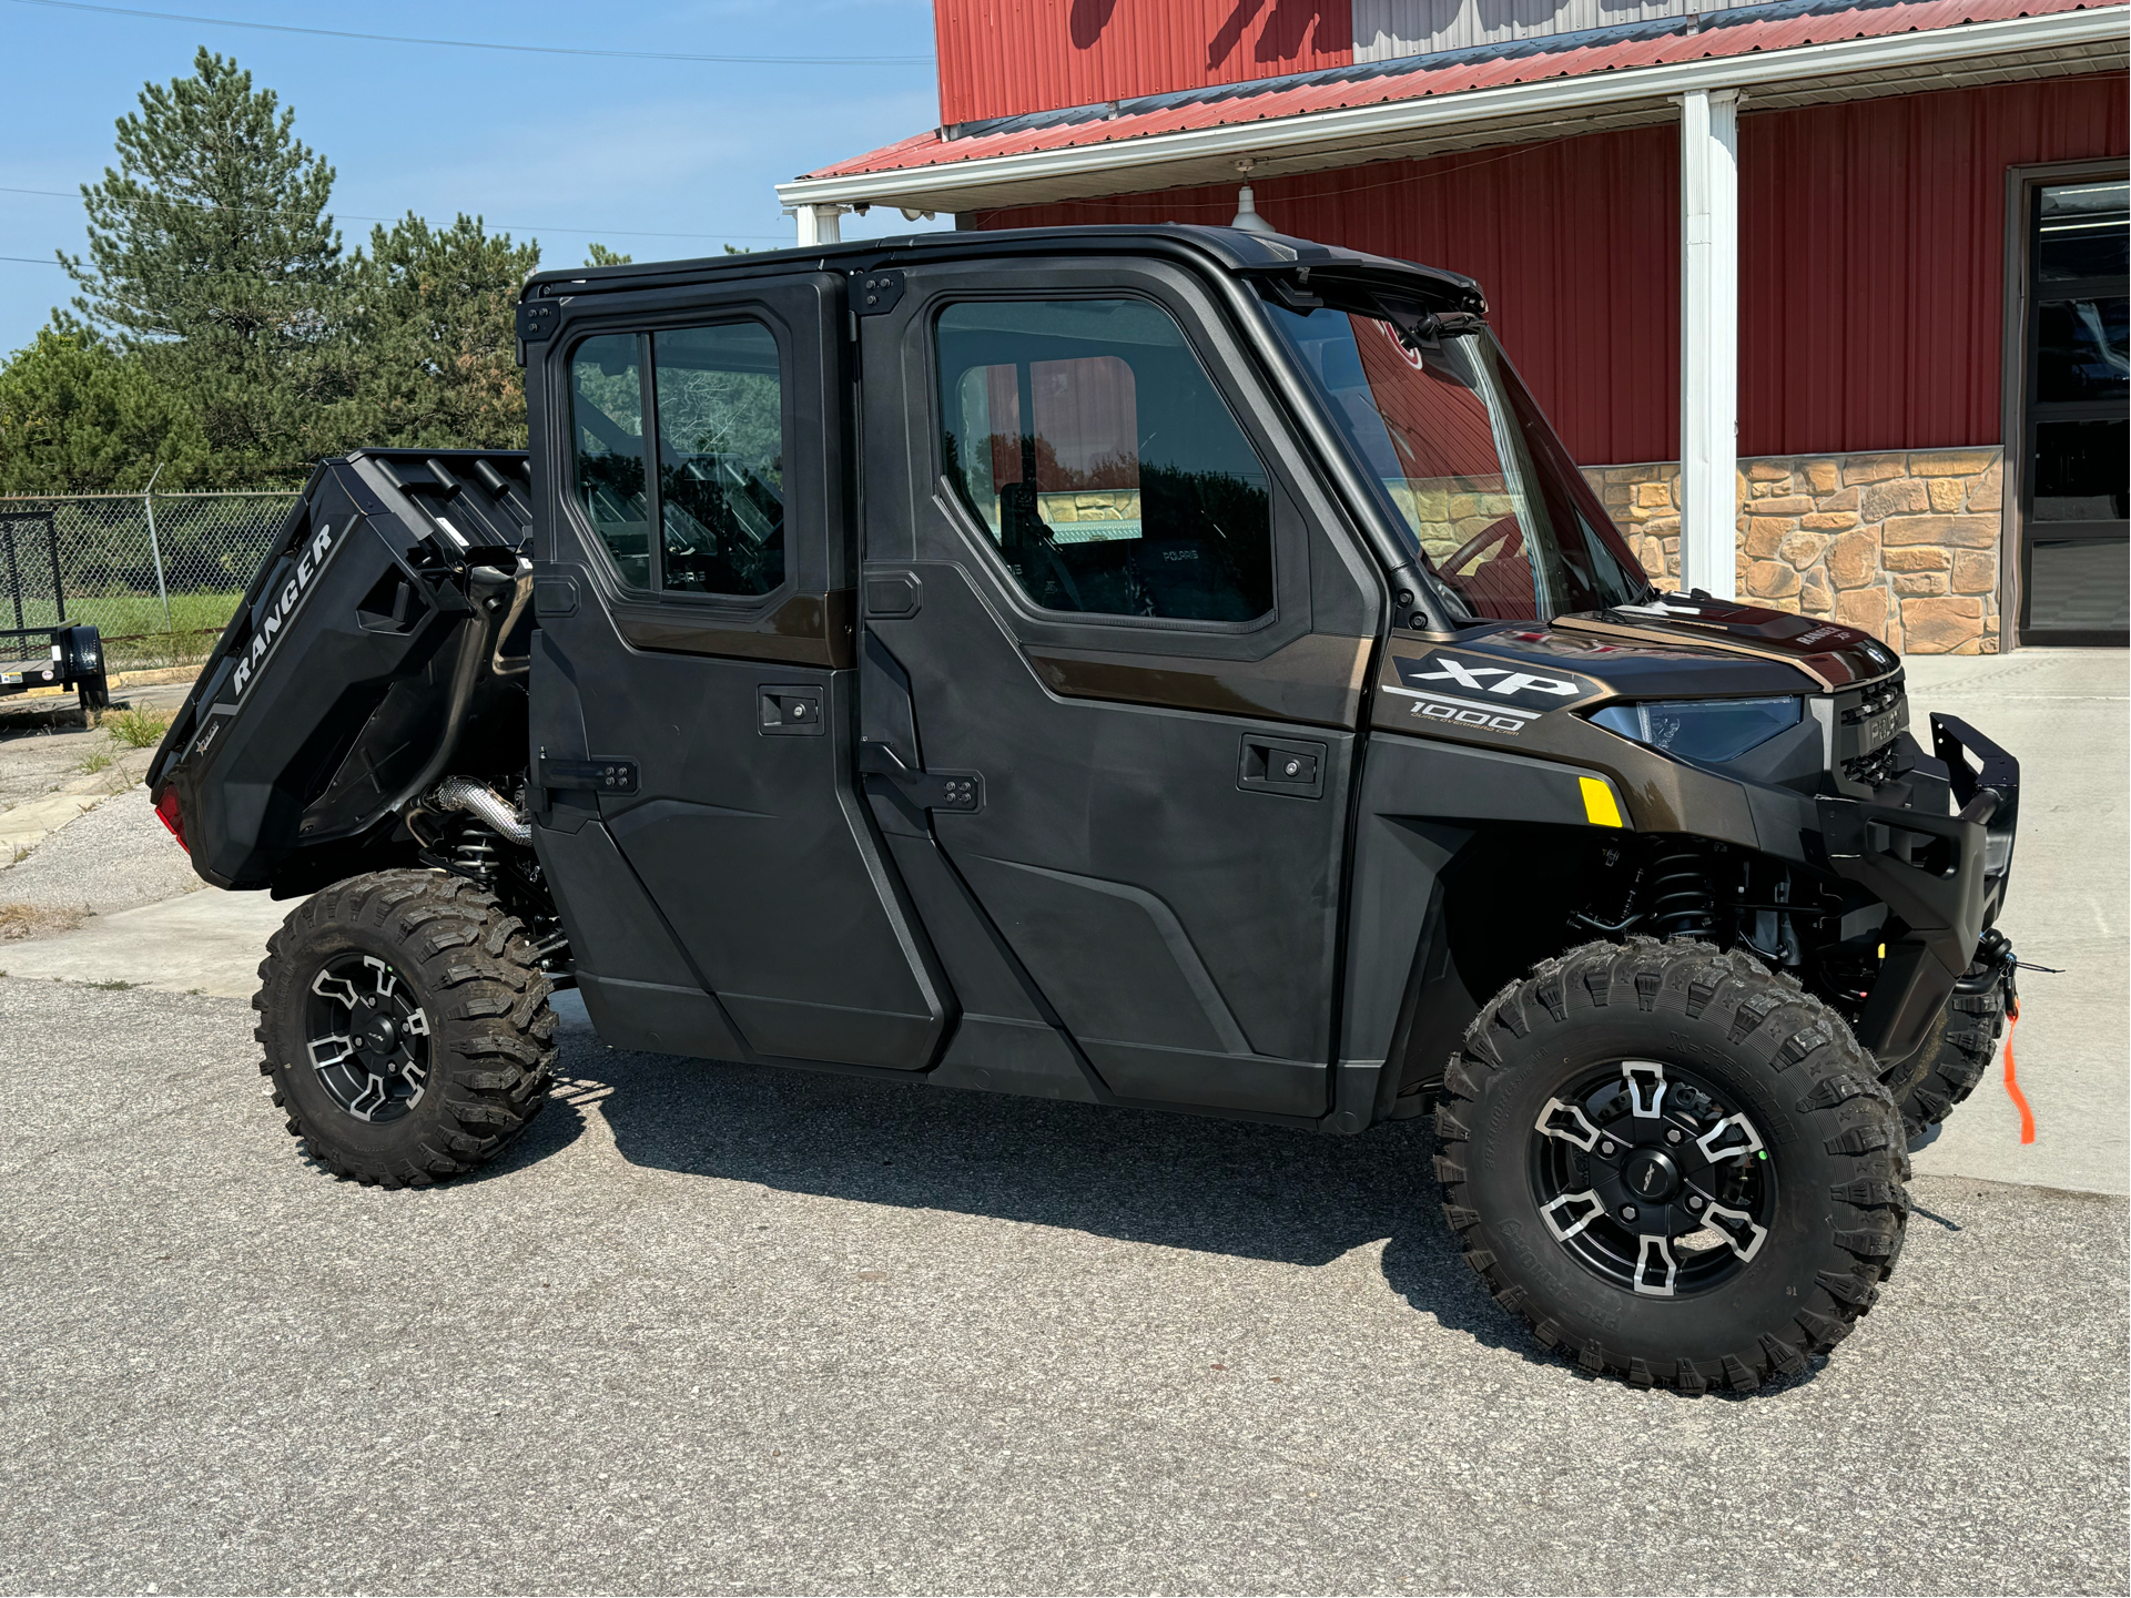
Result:
{"label": "black front door with window, just behind the XP 1000 lettering", "polygon": [[867,290],[865,782],[946,1065],[1029,1089],[1051,1027],[1121,1099],[1323,1114],[1372,571],[1187,271]]}

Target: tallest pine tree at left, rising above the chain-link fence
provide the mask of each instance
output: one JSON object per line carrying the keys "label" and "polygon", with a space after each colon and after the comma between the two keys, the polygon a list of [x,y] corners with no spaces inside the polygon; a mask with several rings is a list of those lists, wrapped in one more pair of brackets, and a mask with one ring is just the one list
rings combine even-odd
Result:
{"label": "tallest pine tree at left, rising above the chain-link fence", "polygon": [[194,409],[215,484],[300,479],[349,420],[335,173],[294,121],[202,47],[119,119],[87,262],[60,258],[75,309]]}

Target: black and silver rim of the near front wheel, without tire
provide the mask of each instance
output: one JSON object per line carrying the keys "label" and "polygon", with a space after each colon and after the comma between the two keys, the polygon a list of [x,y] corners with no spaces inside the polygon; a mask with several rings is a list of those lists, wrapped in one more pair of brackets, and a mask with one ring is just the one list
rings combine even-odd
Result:
{"label": "black and silver rim of the near front wheel, without tire", "polygon": [[1658,1061],[1596,1067],[1547,1099],[1532,1125],[1532,1189],[1556,1242],[1652,1298],[1735,1276],[1773,1212],[1754,1123]]}

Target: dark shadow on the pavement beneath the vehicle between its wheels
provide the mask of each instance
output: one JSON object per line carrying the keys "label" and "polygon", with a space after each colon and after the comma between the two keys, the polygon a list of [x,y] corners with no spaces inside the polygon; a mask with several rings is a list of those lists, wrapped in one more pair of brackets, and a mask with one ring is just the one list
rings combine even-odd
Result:
{"label": "dark shadow on the pavement beneath the vehicle between its wheels", "polygon": [[556,1097],[484,1176],[582,1136],[597,1106],[633,1165],[985,1214],[1123,1242],[1328,1266],[1383,1240],[1387,1285],[1479,1342],[1545,1359],[1451,1246],[1421,1123],[1328,1138],[921,1082],[609,1050],[563,1036]]}

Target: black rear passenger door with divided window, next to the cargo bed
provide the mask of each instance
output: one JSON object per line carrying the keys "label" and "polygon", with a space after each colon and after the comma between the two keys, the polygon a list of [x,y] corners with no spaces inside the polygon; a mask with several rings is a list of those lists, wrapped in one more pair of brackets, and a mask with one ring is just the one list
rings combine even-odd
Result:
{"label": "black rear passenger door with divided window, next to the cargo bed", "polygon": [[842,281],[565,300],[535,844],[609,1042],[916,1070],[946,991],[855,767]]}

